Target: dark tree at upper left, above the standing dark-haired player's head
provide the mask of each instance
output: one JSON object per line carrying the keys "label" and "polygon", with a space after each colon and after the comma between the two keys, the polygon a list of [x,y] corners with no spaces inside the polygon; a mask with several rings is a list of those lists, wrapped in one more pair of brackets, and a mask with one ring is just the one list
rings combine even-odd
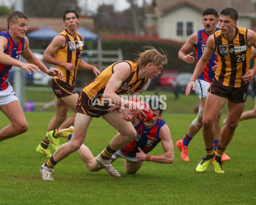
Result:
{"label": "dark tree at upper left, above the standing dark-haired player's head", "polygon": [[62,17],[68,9],[80,13],[76,0],[24,0],[24,13],[34,17]]}

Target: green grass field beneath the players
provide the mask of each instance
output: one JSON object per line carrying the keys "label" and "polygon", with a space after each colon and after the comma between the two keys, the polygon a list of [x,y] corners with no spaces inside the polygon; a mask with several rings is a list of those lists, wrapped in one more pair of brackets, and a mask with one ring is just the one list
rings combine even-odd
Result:
{"label": "green grass field beneath the players", "polygon": [[[183,139],[196,116],[192,109],[198,97],[191,95],[187,100],[180,95],[175,101],[174,96],[168,94],[167,99],[168,107],[163,118],[172,133],[174,163],[144,162],[138,173],[127,175],[122,159],[118,159],[113,166],[122,175],[119,179],[109,176],[105,170],[91,173],[79,155],[73,153],[55,167],[55,181],[43,181],[39,169],[48,158],[36,153],[35,148],[43,139],[54,113],[25,113],[29,130],[0,143],[0,205],[254,205],[256,119],[239,123],[226,150],[231,160],[224,162],[225,174],[214,173],[212,165],[204,173],[197,173],[195,167],[205,156],[201,132],[189,144],[189,162],[180,159],[175,144]],[[248,99],[246,110],[252,109],[253,105],[254,101]],[[224,108],[222,119],[225,113]],[[0,119],[1,128],[9,124],[3,113],[0,113]],[[102,118],[93,119],[84,144],[96,156],[115,133],[116,130]],[[163,153],[161,144],[151,152],[152,155],[160,153]]]}

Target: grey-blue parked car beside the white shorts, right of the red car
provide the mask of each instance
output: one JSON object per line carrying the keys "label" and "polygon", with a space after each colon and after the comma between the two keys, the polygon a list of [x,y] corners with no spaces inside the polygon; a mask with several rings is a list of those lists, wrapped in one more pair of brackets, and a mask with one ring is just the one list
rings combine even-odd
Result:
{"label": "grey-blue parked car beside the white shorts, right of the red car", "polygon": [[[192,78],[192,73],[190,72],[182,72],[177,75],[177,79],[174,83],[175,90],[180,93],[186,92],[186,87],[189,84],[189,80]],[[195,93],[194,90],[191,89],[190,93]]]}

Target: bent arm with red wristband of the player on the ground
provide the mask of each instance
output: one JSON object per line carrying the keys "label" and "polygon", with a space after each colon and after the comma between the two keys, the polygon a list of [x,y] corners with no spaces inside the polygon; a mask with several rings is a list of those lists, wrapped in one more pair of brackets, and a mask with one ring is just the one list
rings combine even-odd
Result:
{"label": "bent arm with red wristband of the player on the ground", "polygon": [[167,124],[163,125],[159,131],[159,136],[163,146],[163,154],[160,155],[145,155],[145,153],[139,148],[138,153],[136,153],[137,161],[150,161],[163,164],[171,164],[174,160],[174,150],[171,138],[171,132]]}

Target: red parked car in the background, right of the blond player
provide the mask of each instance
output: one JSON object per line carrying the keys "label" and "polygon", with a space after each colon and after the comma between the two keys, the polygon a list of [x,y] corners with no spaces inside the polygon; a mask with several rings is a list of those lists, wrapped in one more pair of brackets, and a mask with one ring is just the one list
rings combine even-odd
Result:
{"label": "red parked car in the background, right of the blond player", "polygon": [[179,71],[177,70],[163,70],[159,77],[159,85],[160,86],[172,86],[176,79]]}

